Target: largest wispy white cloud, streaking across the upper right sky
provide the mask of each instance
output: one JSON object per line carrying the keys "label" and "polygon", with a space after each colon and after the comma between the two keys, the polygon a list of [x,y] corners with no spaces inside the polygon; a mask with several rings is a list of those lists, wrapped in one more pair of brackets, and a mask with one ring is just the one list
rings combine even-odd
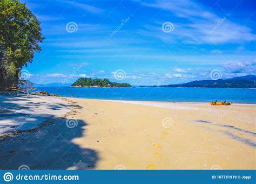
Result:
{"label": "largest wispy white cloud, streaking across the upper right sky", "polygon": [[[151,35],[154,31],[155,37],[166,42],[182,38],[181,41],[190,44],[223,44],[243,43],[256,38],[249,27],[234,23],[226,17],[215,15],[193,1],[160,0],[153,3],[140,1],[140,3],[144,6],[166,10],[170,15],[181,17],[188,22],[186,24],[172,22],[174,30],[170,33],[161,30],[161,25],[167,20],[170,21],[169,17],[155,21],[156,25],[146,25]],[[150,34],[148,35],[150,36]]]}

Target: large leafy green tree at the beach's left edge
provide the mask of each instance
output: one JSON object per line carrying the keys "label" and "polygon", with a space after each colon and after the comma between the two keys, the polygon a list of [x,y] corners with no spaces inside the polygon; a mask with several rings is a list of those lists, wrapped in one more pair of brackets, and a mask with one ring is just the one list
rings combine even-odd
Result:
{"label": "large leafy green tree at the beach's left edge", "polygon": [[18,0],[0,0],[0,88],[17,86],[18,73],[41,51],[40,22]]}

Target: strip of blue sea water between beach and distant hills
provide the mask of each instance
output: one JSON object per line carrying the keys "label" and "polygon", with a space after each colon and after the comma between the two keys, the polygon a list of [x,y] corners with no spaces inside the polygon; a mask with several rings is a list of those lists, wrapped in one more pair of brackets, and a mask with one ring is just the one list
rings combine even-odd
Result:
{"label": "strip of blue sea water between beach and distant hills", "polygon": [[105,100],[256,103],[256,89],[233,88],[69,88],[39,87],[65,97]]}

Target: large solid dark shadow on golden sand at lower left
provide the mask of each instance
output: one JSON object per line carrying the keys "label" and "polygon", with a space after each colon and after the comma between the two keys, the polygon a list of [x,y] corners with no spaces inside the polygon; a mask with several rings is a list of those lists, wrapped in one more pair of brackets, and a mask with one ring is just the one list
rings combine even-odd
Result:
{"label": "large solid dark shadow on golden sand at lower left", "polygon": [[74,143],[83,136],[86,123],[77,120],[77,126],[68,128],[66,119],[60,118],[35,132],[24,132],[1,143],[0,169],[93,169],[98,154]]}

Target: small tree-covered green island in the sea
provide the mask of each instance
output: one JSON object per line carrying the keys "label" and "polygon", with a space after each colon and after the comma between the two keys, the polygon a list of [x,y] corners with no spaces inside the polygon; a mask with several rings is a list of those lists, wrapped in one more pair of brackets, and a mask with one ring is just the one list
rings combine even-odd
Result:
{"label": "small tree-covered green island in the sea", "polygon": [[131,84],[110,82],[108,79],[80,78],[71,87],[109,87],[109,88],[131,88]]}

